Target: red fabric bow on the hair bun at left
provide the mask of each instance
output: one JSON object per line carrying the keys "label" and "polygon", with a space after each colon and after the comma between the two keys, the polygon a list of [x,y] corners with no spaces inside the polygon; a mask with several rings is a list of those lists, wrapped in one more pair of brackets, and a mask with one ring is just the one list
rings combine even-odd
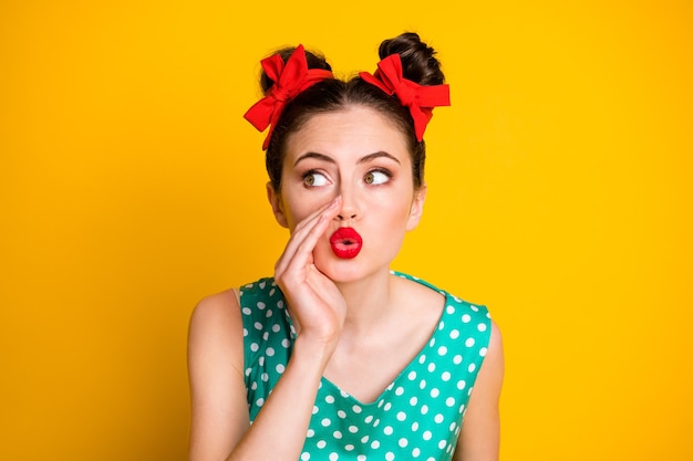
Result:
{"label": "red fabric bow on the hair bun at left", "polygon": [[270,127],[262,144],[262,150],[265,150],[287,103],[309,86],[322,80],[332,78],[332,72],[323,69],[308,69],[303,45],[296,48],[286,64],[279,54],[263,59],[261,64],[265,73],[275,84],[267,91],[265,97],[246,112],[244,117],[259,132]]}

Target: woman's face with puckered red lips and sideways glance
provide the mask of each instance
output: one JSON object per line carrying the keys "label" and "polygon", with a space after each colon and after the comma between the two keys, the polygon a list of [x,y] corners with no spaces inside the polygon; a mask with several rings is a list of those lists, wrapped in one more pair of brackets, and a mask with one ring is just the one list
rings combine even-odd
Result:
{"label": "woman's face with puckered red lips and sideways glance", "polygon": [[425,186],[414,190],[404,135],[362,106],[316,115],[291,135],[281,185],[279,193],[268,185],[268,193],[277,221],[291,232],[342,196],[339,216],[313,250],[316,266],[337,282],[389,270],[425,198]]}

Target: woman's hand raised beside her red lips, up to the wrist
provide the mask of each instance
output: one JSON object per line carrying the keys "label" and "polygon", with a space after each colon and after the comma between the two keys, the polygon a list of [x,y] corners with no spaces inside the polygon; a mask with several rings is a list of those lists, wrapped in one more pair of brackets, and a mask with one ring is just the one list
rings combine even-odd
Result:
{"label": "woman's hand raised beside her red lips, up to the wrist", "polygon": [[313,263],[313,249],[339,213],[341,197],[299,222],[275,265],[275,280],[289,303],[299,335],[320,346],[339,339],[346,304],[342,294]]}

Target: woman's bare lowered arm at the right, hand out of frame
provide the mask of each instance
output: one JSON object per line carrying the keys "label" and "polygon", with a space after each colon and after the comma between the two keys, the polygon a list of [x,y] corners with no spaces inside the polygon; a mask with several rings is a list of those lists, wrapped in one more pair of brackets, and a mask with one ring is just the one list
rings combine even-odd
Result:
{"label": "woman's bare lowered arm at the right, hand out of frame", "polygon": [[488,352],[474,384],[462,432],[455,451],[455,461],[497,461],[500,442],[498,400],[505,369],[503,339],[498,326],[492,322]]}

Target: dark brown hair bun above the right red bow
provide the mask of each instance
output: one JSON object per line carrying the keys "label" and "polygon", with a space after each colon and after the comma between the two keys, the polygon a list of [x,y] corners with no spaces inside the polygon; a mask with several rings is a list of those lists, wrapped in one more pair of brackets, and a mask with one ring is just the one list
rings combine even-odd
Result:
{"label": "dark brown hair bun above the right red bow", "polygon": [[399,54],[405,78],[420,85],[439,85],[445,82],[435,50],[421,41],[418,34],[405,32],[380,44],[380,59]]}

